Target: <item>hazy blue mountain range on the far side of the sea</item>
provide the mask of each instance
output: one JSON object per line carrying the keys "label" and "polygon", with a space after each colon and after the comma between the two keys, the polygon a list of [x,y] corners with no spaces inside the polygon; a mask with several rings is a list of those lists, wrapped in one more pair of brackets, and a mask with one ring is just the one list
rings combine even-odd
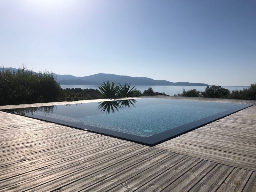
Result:
{"label": "hazy blue mountain range on the far side of the sea", "polygon": [[[5,68],[8,69],[8,68]],[[17,71],[18,69],[12,68]],[[95,75],[76,77],[72,75],[58,75],[56,76],[57,81],[62,85],[98,85],[106,80],[115,81],[116,83],[130,83],[132,85],[180,85],[180,86],[210,86],[204,83],[188,83],[188,82],[177,82],[173,83],[166,80],[154,80],[148,77],[131,77],[123,75],[105,74],[98,73]]]}

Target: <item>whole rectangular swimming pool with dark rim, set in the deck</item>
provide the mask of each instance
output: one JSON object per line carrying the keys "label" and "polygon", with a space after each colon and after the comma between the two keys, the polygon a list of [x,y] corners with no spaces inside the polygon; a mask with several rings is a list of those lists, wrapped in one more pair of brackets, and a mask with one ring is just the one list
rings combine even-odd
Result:
{"label": "whole rectangular swimming pool with dark rim, set in the deck", "polygon": [[154,146],[250,106],[140,98],[2,111]]}

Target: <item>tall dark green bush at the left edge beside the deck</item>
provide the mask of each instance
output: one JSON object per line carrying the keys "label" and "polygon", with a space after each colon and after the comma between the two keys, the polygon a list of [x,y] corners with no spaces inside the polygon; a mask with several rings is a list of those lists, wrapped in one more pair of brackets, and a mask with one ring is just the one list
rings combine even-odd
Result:
{"label": "tall dark green bush at the left edge beside the deck", "polygon": [[17,72],[0,68],[0,105],[54,102],[60,84],[49,71],[35,73],[24,66]]}

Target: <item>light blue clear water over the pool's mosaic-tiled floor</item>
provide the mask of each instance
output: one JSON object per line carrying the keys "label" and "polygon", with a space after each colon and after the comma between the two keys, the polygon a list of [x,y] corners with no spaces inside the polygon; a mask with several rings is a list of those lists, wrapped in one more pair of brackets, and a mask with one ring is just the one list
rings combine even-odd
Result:
{"label": "light blue clear water over the pool's mosaic-tiled floor", "polygon": [[86,125],[149,137],[226,110],[159,103],[136,106],[130,110],[119,110],[118,113],[110,113],[108,115],[101,113],[78,119]]}

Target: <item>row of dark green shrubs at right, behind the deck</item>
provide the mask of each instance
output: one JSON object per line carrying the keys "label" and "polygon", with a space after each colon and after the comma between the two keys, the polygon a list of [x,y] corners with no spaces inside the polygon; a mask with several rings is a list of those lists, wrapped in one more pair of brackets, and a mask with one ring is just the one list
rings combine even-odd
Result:
{"label": "row of dark green shrubs at right, behind the deck", "polygon": [[256,100],[256,83],[243,90],[233,90],[232,92],[220,85],[207,86],[204,92],[197,91],[196,89],[185,91],[183,88],[182,93],[174,96]]}

